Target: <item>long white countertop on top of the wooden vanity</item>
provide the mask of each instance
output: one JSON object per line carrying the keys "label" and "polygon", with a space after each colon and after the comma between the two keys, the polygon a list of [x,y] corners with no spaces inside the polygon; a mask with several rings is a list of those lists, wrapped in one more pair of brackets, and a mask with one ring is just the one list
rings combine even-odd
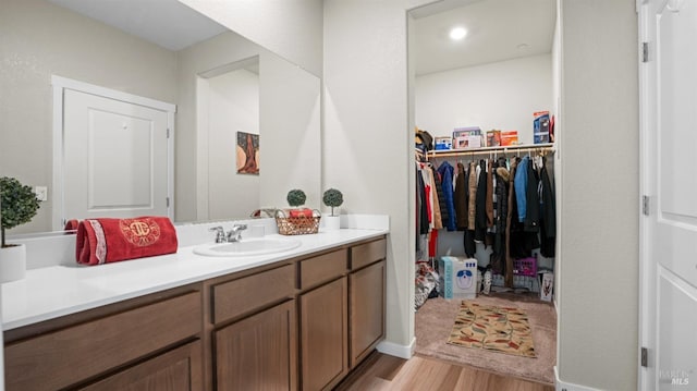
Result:
{"label": "long white countertop on top of the wooden vanity", "polygon": [[195,246],[186,246],[176,254],[99,266],[32,269],[25,279],[2,284],[2,328],[7,331],[387,233],[388,230],[320,230],[317,234],[292,236],[302,242],[297,248],[252,257],[206,257],[194,254]]}

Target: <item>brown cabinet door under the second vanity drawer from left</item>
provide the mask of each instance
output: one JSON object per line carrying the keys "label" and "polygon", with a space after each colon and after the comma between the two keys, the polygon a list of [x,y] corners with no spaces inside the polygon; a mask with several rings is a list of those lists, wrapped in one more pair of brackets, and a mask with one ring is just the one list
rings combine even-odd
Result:
{"label": "brown cabinet door under the second vanity drawer from left", "polygon": [[215,332],[216,384],[228,390],[296,390],[295,302]]}

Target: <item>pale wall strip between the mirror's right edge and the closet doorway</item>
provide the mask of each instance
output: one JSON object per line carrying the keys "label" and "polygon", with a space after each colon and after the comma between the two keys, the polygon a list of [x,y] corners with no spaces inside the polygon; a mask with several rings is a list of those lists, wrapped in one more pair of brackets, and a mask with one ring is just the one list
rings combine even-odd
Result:
{"label": "pale wall strip between the mirror's right edge and the closet doorway", "polygon": [[387,342],[402,351],[414,338],[406,9],[418,3],[325,1],[322,184],[344,193],[346,212],[390,216]]}

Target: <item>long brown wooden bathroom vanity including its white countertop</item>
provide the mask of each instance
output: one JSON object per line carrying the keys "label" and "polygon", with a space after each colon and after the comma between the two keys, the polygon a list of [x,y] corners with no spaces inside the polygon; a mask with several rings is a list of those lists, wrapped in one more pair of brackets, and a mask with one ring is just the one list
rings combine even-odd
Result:
{"label": "long brown wooden bathroom vanity including its white countertop", "polygon": [[386,235],[29,270],[3,286],[7,390],[331,389],[383,339]]}

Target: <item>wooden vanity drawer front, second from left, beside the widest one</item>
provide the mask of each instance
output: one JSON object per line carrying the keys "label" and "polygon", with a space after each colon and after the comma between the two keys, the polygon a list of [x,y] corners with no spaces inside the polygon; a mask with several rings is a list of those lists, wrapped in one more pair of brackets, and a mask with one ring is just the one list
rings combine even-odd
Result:
{"label": "wooden vanity drawer front, second from left, beside the widest one", "polygon": [[295,293],[293,265],[243,277],[212,286],[213,323],[279,302]]}

